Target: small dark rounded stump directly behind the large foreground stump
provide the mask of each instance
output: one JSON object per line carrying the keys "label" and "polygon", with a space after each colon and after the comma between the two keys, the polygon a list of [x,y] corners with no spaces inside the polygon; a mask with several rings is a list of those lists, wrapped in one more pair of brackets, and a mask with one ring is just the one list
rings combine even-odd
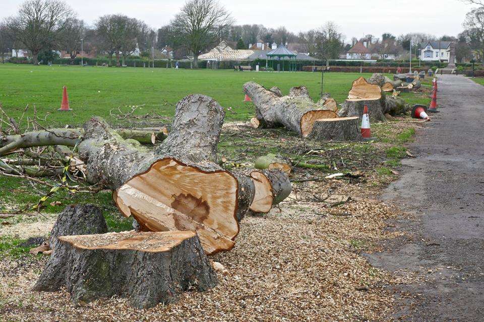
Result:
{"label": "small dark rounded stump directly behind the large foreground stump", "polygon": [[49,245],[55,249],[58,236],[91,235],[107,232],[101,209],[87,205],[69,205],[58,216],[50,231]]}

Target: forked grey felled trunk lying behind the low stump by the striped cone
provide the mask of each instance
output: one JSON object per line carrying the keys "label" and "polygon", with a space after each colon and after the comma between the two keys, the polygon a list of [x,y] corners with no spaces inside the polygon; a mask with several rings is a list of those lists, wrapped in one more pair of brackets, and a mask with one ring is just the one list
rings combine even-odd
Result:
{"label": "forked grey felled trunk lying behind the low stump by the striped cone", "polygon": [[306,137],[311,133],[315,120],[337,117],[331,110],[334,104],[329,98],[314,103],[305,86],[293,87],[289,95],[280,97],[257,83],[248,82],[244,84],[244,92],[256,106],[260,126],[274,127],[281,124]]}

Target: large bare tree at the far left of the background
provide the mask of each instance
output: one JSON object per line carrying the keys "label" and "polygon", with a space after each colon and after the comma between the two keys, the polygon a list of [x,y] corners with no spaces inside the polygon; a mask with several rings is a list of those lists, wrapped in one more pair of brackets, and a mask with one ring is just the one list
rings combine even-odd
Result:
{"label": "large bare tree at the far left of the background", "polygon": [[53,47],[74,13],[66,3],[58,0],[28,0],[17,16],[7,19],[7,26],[15,40],[32,53],[37,64],[38,53]]}

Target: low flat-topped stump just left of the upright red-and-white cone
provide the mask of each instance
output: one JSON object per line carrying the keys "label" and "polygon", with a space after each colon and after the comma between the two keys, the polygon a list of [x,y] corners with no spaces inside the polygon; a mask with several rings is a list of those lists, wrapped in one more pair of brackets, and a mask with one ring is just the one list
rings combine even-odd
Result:
{"label": "low flat-topped stump just left of the upright red-and-white cone", "polygon": [[359,141],[361,131],[357,116],[320,119],[314,122],[310,138],[335,141]]}

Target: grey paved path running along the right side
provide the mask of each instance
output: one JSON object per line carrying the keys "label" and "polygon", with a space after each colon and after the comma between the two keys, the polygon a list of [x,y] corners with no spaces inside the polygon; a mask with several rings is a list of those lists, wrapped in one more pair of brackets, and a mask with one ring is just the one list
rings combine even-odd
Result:
{"label": "grey paved path running along the right side", "polygon": [[441,113],[417,132],[409,146],[417,157],[404,160],[384,196],[416,214],[395,222],[410,236],[368,258],[421,278],[396,290],[395,319],[484,321],[484,87],[455,75],[438,85]]}

